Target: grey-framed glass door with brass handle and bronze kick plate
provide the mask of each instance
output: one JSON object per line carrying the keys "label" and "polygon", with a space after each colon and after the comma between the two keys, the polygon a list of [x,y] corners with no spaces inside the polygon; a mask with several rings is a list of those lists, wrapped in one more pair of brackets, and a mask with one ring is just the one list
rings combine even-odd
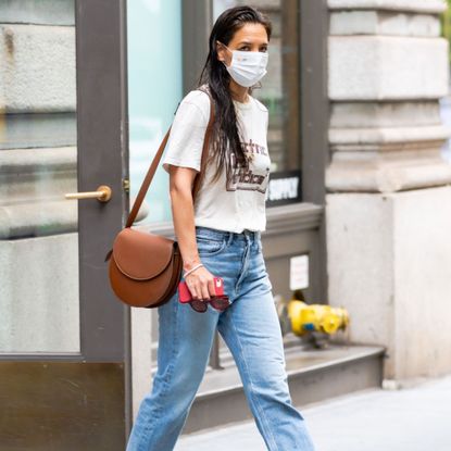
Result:
{"label": "grey-framed glass door with brass handle and bronze kick plate", "polygon": [[0,2],[0,448],[123,450],[128,315],[122,0]]}

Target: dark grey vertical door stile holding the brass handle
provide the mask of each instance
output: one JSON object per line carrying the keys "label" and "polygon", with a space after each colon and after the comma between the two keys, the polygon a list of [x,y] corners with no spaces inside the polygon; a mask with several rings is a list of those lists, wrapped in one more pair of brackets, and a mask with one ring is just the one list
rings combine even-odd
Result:
{"label": "dark grey vertical door stile holding the brass handle", "polygon": [[[86,361],[124,363],[128,436],[133,421],[130,309],[114,298],[107,264],[101,264],[129,210],[124,189],[128,180],[126,11],[126,0],[76,0],[78,190],[92,190],[101,181],[113,191],[104,208],[82,202],[78,206],[82,230],[99,223],[104,226],[99,234],[80,234],[82,354]],[[99,180],[101,165],[105,170]],[[89,302],[92,299],[96,302]]]}

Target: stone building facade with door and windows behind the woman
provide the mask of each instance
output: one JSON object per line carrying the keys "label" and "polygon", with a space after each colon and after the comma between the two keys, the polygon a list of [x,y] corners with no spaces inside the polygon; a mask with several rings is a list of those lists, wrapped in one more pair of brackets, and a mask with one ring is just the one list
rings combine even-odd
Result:
{"label": "stone building facade with door and windows behind the woman", "polygon": [[[300,288],[308,302],[347,308],[350,341],[387,350],[387,381],[450,372],[443,1],[5,1],[0,396],[11,415],[0,436],[8,449],[48,450],[50,436],[67,450],[123,449],[155,368],[158,317],[114,299],[103,256],[178,101],[196,87],[214,20],[245,3],[274,26],[268,74],[254,91],[270,110],[263,246],[274,293],[290,299]],[[65,196],[80,191],[100,195]],[[136,227],[173,236],[168,202],[160,171]],[[287,351],[295,341],[286,337]],[[217,337],[210,375],[227,365]],[[24,422],[27,436],[18,434]]]}

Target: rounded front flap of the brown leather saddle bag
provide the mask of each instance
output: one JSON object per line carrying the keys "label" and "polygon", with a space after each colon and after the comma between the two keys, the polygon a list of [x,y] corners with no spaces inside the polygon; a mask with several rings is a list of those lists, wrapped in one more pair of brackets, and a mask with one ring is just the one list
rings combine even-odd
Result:
{"label": "rounded front flap of the brown leather saddle bag", "polygon": [[171,263],[174,240],[126,227],[113,243],[113,259],[118,270],[137,280],[148,280]]}

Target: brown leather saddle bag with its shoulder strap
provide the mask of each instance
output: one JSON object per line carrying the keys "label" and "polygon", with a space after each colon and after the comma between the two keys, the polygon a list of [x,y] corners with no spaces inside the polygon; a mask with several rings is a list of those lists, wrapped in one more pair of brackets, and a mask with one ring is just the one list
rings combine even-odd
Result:
{"label": "brown leather saddle bag with its shoulder strap", "polygon": [[[203,141],[201,171],[196,176],[192,187],[193,200],[206,164],[213,121],[214,108],[210,97],[210,120]],[[170,133],[171,127],[149,167],[125,227],[116,235],[113,247],[105,256],[105,261],[109,261],[111,288],[122,302],[130,306],[151,309],[164,304],[175,293],[181,277],[183,260],[177,241],[131,228],[166,147]]]}

